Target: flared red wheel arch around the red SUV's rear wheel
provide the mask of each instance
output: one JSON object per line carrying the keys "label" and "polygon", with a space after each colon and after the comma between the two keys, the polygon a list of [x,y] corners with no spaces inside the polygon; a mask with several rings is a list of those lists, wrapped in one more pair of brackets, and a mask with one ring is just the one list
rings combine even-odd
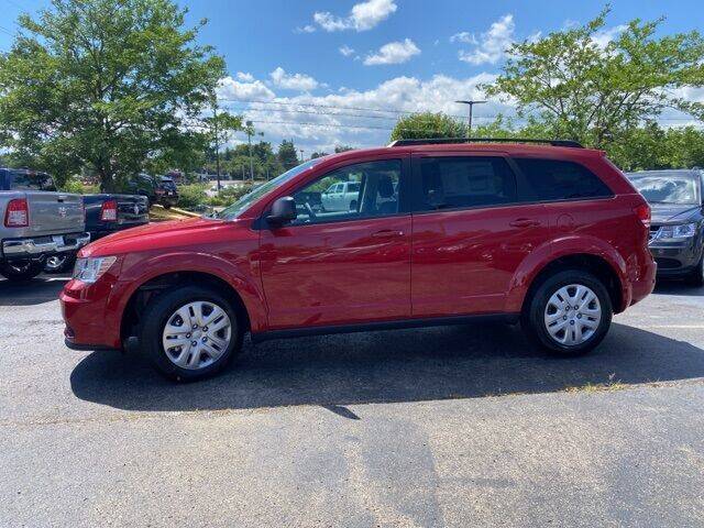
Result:
{"label": "flared red wheel arch around the red SUV's rear wheel", "polygon": [[622,289],[622,306],[616,311],[630,305],[632,292],[628,277],[628,265],[616,249],[604,240],[585,234],[570,234],[554,239],[534,250],[520,263],[514,274],[506,296],[506,311],[519,312],[530,285],[540,272],[551,262],[570,255],[593,255],[603,258],[616,273]]}

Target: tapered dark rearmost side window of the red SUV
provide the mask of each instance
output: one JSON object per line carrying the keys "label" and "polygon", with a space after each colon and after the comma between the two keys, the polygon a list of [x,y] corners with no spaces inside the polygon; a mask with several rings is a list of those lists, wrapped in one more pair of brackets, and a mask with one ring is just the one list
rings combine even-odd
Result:
{"label": "tapered dark rearmost side window of the red SUV", "polygon": [[539,201],[614,196],[604,182],[579,163],[519,157],[514,161]]}

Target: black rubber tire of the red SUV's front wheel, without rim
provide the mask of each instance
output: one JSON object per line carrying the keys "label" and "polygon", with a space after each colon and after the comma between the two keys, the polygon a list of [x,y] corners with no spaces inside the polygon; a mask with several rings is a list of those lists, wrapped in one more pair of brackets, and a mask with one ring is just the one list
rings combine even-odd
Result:
{"label": "black rubber tire of the red SUV's front wheel, without rim", "polygon": [[[169,317],[182,306],[196,300],[206,300],[221,307],[231,321],[230,344],[224,353],[212,364],[197,370],[183,369],[172,362],[162,344],[162,333]],[[213,376],[221,372],[242,348],[242,324],[237,310],[229,299],[213,289],[200,286],[179,286],[165,292],[152,300],[142,315],[140,328],[140,349],[164,376],[189,382]]]}

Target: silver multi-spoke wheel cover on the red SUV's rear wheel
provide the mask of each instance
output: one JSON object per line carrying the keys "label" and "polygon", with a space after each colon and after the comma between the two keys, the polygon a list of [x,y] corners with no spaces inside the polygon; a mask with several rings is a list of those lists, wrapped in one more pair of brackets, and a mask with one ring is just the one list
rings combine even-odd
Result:
{"label": "silver multi-spoke wheel cover on the red SUV's rear wheel", "polygon": [[575,346],[591,339],[601,321],[598,297],[583,284],[562,286],[546,305],[546,330],[554,341],[565,346]]}

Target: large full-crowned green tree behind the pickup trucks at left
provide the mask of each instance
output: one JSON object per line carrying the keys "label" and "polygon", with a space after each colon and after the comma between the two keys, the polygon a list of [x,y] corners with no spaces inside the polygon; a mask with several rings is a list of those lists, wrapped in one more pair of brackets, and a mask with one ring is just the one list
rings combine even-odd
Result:
{"label": "large full-crowned green tree behind the pickup trucks at left", "polygon": [[[183,141],[224,64],[170,0],[52,0],[0,55],[0,130],[59,182],[87,167],[113,190]],[[191,136],[193,139],[193,136]],[[179,151],[183,153],[183,151]]]}

